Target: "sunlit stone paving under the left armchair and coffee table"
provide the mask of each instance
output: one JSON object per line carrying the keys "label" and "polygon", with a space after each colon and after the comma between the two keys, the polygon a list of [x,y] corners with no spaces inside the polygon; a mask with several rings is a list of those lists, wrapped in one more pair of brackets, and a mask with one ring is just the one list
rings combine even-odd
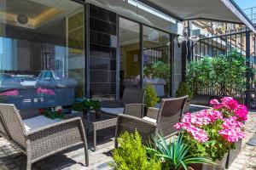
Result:
{"label": "sunlit stone paving under the left armchair and coffee table", "polygon": [[[98,145],[93,150],[92,134],[88,133],[90,166],[84,167],[84,148],[82,146],[66,150],[60,154],[49,156],[32,164],[32,170],[108,170],[112,161],[114,127],[97,133]],[[12,144],[0,137],[0,170],[25,170],[26,156],[15,150]]]}

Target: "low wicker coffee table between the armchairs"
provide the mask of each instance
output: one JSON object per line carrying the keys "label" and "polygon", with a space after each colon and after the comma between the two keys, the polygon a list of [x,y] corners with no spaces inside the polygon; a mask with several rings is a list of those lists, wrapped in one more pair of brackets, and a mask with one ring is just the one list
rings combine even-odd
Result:
{"label": "low wicker coffee table between the armchairs", "polygon": [[84,128],[89,132],[93,132],[93,145],[96,150],[96,132],[98,130],[115,127],[117,122],[116,116],[110,116],[100,112],[90,112],[83,117]]}

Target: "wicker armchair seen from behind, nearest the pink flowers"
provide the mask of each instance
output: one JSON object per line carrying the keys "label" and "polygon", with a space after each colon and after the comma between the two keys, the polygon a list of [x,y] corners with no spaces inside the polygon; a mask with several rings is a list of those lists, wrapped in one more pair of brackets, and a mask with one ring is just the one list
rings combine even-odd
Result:
{"label": "wicker armchair seen from behind, nearest the pink flowers", "polygon": [[[188,96],[174,99],[162,99],[160,109],[148,108],[147,117],[139,118],[131,115],[119,115],[117,120],[115,147],[117,138],[125,131],[134,133],[136,130],[142,136],[143,142],[151,139],[154,133],[161,133],[168,138],[177,133],[173,126],[181,121],[184,105]],[[145,119],[148,118],[148,119]],[[148,121],[148,120],[153,121]]]}

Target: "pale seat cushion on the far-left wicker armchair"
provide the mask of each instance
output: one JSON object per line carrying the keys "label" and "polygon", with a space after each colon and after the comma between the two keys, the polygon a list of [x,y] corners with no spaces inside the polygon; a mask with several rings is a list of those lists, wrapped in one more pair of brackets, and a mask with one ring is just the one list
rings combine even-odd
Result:
{"label": "pale seat cushion on the far-left wicker armchair", "polygon": [[36,116],[29,119],[23,120],[24,126],[26,128],[26,132],[32,131],[39,127],[44,127],[49,124],[53,124],[55,122],[60,122],[61,119],[49,119],[46,116]]}

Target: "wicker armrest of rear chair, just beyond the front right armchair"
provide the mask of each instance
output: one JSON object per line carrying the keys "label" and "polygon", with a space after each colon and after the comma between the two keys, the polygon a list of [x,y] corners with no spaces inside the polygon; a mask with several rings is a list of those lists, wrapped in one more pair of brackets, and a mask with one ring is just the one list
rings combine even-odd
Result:
{"label": "wicker armrest of rear chair, just beyond the front right armchair", "polygon": [[126,104],[124,114],[143,118],[144,104]]}

